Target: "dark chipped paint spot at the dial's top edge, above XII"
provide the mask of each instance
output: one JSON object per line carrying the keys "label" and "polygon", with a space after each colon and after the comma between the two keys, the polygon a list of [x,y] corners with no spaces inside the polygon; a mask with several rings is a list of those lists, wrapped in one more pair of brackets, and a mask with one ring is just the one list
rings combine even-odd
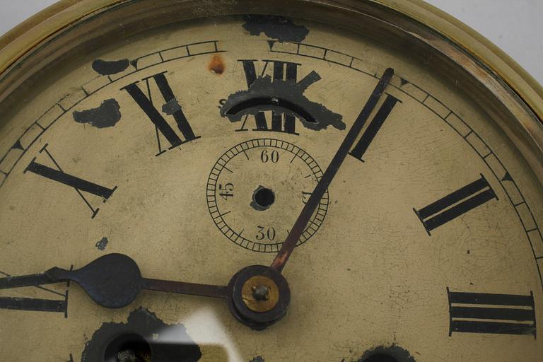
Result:
{"label": "dark chipped paint spot at the dial's top edge, above XII", "polygon": [[303,42],[309,34],[309,29],[296,25],[284,16],[247,15],[244,17],[243,28],[250,35],[258,36],[264,33],[267,37],[279,42]]}

